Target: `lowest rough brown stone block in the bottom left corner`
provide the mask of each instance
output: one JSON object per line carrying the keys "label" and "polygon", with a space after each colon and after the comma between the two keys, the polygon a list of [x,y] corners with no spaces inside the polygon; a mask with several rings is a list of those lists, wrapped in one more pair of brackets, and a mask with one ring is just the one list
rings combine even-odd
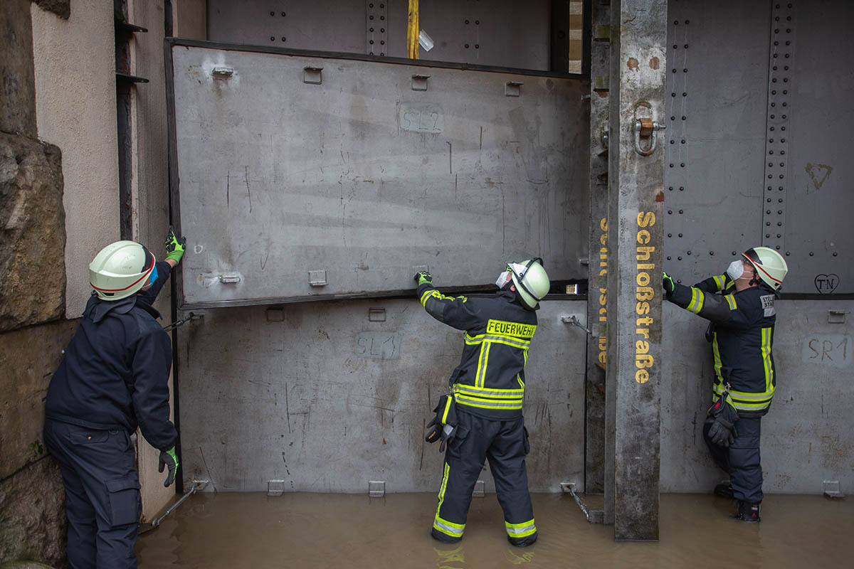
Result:
{"label": "lowest rough brown stone block in the bottom left corner", "polygon": [[38,560],[65,567],[65,491],[50,456],[0,480],[0,563]]}

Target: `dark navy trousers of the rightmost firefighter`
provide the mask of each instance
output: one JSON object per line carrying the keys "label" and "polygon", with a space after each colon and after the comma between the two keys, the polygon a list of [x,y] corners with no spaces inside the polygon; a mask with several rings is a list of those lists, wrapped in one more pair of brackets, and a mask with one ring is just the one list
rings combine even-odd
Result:
{"label": "dark navy trousers of the rightmost firefighter", "polygon": [[703,426],[705,444],[711,450],[711,456],[718,467],[729,473],[733,494],[744,502],[762,502],[762,465],[759,456],[759,438],[762,434],[762,418],[747,419],[740,417],[735,421],[738,436],[735,442],[725,449],[709,440],[708,419]]}

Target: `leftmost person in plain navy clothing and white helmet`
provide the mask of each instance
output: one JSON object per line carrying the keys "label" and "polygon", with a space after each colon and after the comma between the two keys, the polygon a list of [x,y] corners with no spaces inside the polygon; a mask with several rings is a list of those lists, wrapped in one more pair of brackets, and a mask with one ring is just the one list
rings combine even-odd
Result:
{"label": "leftmost person in plain navy clothing and white helmet", "polygon": [[183,254],[184,240],[170,228],[165,262],[137,242],[117,241],[89,265],[95,290],[50,380],[44,421],[44,442],[65,485],[72,569],[137,566],[137,426],[161,450],[164,485],[173,483],[172,345],[152,304]]}

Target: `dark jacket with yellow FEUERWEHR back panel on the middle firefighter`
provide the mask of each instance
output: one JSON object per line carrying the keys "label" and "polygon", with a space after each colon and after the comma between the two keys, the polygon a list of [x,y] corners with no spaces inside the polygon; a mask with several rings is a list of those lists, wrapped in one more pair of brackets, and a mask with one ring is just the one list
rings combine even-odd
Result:
{"label": "dark jacket with yellow FEUERWEHR back panel on the middle firefighter", "polygon": [[522,416],[536,312],[526,310],[508,290],[491,297],[451,297],[424,283],[418,298],[430,316],[465,330],[463,356],[448,380],[457,409],[494,420]]}

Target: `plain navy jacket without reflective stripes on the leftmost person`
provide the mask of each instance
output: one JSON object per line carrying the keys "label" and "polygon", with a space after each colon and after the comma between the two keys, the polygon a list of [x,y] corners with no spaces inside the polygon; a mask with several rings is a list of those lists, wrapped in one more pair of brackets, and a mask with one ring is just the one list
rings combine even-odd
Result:
{"label": "plain navy jacket without reflective stripes on the leftmost person", "polygon": [[157,264],[146,293],[121,300],[92,295],[77,332],[50,380],[45,414],[81,427],[136,431],[159,450],[175,445],[169,421],[172,343],[151,306],[169,277]]}

